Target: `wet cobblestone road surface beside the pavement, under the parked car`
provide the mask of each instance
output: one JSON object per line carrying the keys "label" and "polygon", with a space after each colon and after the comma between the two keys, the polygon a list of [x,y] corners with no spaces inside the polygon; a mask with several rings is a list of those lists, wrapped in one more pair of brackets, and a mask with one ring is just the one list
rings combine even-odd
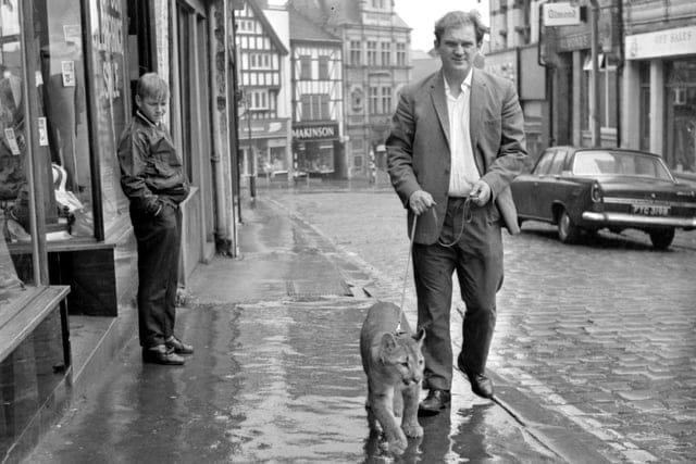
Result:
{"label": "wet cobblestone road surface beside the pavement, under the parked car", "polygon": [[[390,188],[319,185],[259,197],[370,267],[372,285],[400,303],[409,243]],[[634,233],[576,246],[540,223],[525,223],[519,237],[504,233],[494,376],[600,439],[611,461],[696,461],[695,237],[678,231],[661,252]],[[414,312],[410,276],[405,305]]]}

